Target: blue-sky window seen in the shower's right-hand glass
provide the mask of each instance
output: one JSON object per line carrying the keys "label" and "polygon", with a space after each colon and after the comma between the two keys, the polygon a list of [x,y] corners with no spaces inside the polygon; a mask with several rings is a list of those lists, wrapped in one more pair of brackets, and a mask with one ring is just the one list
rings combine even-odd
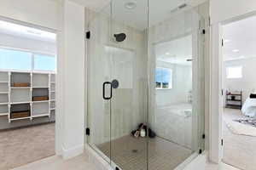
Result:
{"label": "blue-sky window seen in the shower's right-hand glass", "polygon": [[155,69],[155,88],[171,89],[172,88],[172,69],[157,67]]}

